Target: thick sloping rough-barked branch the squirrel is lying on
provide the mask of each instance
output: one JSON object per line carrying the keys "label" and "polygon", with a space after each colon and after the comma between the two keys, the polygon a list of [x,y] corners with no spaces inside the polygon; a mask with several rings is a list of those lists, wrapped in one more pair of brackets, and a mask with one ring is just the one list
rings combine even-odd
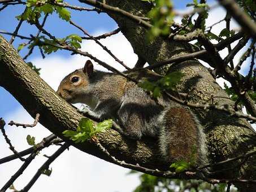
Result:
{"label": "thick sloping rough-barked branch the squirrel is lying on", "polygon": [[[40,113],[40,123],[66,141],[67,138],[63,137],[62,132],[76,129],[79,120],[83,117],[70,104],[60,99],[1,36],[0,86],[14,95],[32,117]],[[69,140],[67,142],[71,143]],[[149,168],[168,167],[167,162],[159,160],[157,142],[153,139],[144,139],[142,142],[129,140],[120,136],[115,130],[109,129],[104,134],[99,134],[99,142],[111,155],[125,162],[138,163]],[[72,145],[112,162],[92,141],[76,145],[72,143]]]}

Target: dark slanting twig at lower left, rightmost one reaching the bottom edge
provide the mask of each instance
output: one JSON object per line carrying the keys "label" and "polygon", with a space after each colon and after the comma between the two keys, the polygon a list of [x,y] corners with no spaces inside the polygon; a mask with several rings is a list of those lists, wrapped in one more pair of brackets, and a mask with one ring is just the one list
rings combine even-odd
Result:
{"label": "dark slanting twig at lower left, rightmost one reaching the bottom edge", "polygon": [[37,179],[41,176],[42,172],[46,169],[49,169],[49,165],[54,162],[55,159],[58,158],[62,152],[64,152],[70,144],[64,143],[63,146],[61,146],[56,152],[54,152],[53,155],[49,156],[47,161],[37,170],[36,174],[34,174],[33,178],[31,181],[29,181],[28,185],[26,185],[23,189],[20,190],[20,192],[25,192],[31,189],[31,187],[34,185],[34,183],[37,181]]}

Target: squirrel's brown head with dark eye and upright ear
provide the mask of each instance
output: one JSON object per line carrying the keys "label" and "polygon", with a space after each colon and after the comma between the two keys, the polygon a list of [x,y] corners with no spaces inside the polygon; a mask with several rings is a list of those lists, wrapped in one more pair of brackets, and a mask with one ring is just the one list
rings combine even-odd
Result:
{"label": "squirrel's brown head with dark eye and upright ear", "polygon": [[77,69],[63,78],[57,90],[60,95],[69,103],[79,103],[83,100],[88,89],[89,78],[93,75],[93,63],[87,60],[84,68]]}

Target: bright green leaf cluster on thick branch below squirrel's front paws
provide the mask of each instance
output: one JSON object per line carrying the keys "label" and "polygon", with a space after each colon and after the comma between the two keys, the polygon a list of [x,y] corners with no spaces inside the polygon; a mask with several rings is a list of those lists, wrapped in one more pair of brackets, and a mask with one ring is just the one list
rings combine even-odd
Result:
{"label": "bright green leaf cluster on thick branch below squirrel's front paws", "polygon": [[63,132],[65,137],[69,137],[75,143],[85,142],[96,136],[97,133],[105,132],[107,128],[111,128],[112,120],[105,120],[95,125],[92,120],[82,118],[76,130],[65,130]]}

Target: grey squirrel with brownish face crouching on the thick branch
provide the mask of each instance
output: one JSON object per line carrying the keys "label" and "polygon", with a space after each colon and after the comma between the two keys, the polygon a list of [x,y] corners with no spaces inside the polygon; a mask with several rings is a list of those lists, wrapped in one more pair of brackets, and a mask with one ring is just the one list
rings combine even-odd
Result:
{"label": "grey squirrel with brownish face crouching on the thick branch", "polygon": [[[140,68],[127,72],[136,80],[157,81],[162,76]],[[197,117],[188,107],[168,98],[157,102],[127,78],[95,71],[90,60],[84,68],[64,77],[57,93],[69,103],[85,103],[89,116],[112,119],[120,125],[120,133],[133,139],[157,137],[159,150],[167,162],[185,160],[192,155],[196,164],[207,163],[205,134]]]}

